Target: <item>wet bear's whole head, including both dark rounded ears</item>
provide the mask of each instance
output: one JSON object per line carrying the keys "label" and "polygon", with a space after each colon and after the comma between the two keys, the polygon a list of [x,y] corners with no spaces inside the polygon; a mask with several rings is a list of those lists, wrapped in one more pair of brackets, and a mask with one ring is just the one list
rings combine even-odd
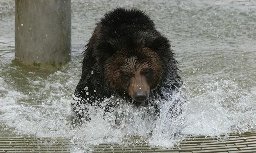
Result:
{"label": "wet bear's whole head, including both dark rounded ears", "polygon": [[170,42],[163,36],[106,39],[96,48],[94,57],[98,67],[103,68],[108,88],[138,103],[146,101],[150,90],[160,85],[166,74],[167,60],[172,59]]}

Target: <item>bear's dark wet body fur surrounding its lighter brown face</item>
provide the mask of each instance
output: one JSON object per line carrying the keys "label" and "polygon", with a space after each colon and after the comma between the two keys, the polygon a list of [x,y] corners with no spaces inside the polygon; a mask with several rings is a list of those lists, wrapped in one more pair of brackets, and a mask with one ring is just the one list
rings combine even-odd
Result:
{"label": "bear's dark wet body fur surrounding its lighter brown face", "polygon": [[[105,97],[111,95],[130,99],[124,90],[113,91],[110,87],[105,76],[106,62],[120,50],[125,57],[140,56],[136,52],[138,48],[150,48],[162,62],[163,77],[156,87],[150,89],[151,97],[166,99],[168,97],[163,92],[174,91],[180,87],[182,81],[178,75],[177,61],[170,41],[156,30],[154,22],[141,10],[116,8],[105,14],[96,24],[94,33],[86,45],[81,79],[74,92],[76,101],[72,102],[74,113],[79,118],[86,117],[86,120],[90,120],[86,107],[82,104],[95,105],[97,101],[96,105],[100,105]],[[88,87],[87,91],[84,90],[85,87]],[[86,95],[86,92],[89,94]],[[115,103],[110,104],[110,107],[115,106]],[[108,108],[106,110],[108,111]]]}

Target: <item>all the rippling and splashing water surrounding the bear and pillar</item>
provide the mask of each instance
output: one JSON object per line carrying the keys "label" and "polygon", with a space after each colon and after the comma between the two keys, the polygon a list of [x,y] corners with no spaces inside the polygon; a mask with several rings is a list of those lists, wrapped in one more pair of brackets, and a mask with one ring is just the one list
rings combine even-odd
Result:
{"label": "all the rippling and splashing water surrounding the bear and pillar", "polygon": [[[141,119],[126,105],[117,126],[101,110],[88,125],[70,125],[70,101],[80,79],[81,53],[95,23],[116,6],[137,7],[168,37],[180,63],[187,103],[181,120],[166,113]],[[256,2],[248,0],[72,1],[72,60],[48,73],[14,60],[14,1],[0,2],[0,137],[70,137],[81,145],[124,143],[130,136],[169,147],[182,135],[221,135],[256,130]],[[178,98],[180,95],[176,95]],[[145,115],[144,115],[145,116]],[[152,136],[148,135],[153,127]],[[174,137],[174,133],[181,136]]]}

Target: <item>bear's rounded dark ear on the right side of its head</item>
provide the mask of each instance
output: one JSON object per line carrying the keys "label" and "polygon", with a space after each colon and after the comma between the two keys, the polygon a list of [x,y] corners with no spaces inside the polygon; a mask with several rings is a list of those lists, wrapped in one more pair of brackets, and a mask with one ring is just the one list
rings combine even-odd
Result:
{"label": "bear's rounded dark ear on the right side of its head", "polygon": [[160,54],[164,54],[164,52],[167,52],[170,49],[171,45],[167,38],[160,36],[149,40],[146,43],[146,47]]}

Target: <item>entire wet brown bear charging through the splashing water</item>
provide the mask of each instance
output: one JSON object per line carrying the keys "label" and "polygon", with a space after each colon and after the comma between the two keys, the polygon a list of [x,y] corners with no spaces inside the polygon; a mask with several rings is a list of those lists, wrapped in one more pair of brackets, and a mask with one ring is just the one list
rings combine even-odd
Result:
{"label": "entire wet brown bear charging through the splashing water", "polygon": [[133,101],[135,106],[171,96],[182,81],[170,47],[141,10],[116,8],[105,14],[84,51],[82,75],[72,101],[75,114],[90,120],[86,106],[99,105],[111,95]]}

